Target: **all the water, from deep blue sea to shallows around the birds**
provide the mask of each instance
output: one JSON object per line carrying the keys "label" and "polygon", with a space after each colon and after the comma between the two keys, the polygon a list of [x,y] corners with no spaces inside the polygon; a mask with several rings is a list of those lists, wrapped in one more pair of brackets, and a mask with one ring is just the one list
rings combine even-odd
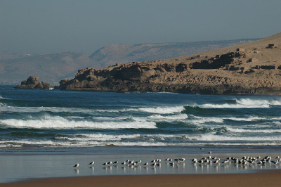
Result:
{"label": "all the water, from deep blue sea to shallows around the birds", "polygon": [[[198,165],[197,157],[281,152],[281,96],[206,96],[0,86],[0,183],[107,174],[243,173],[281,165]],[[212,153],[209,154],[209,151]],[[259,153],[259,154],[258,154]],[[166,157],[186,161],[163,162]],[[122,166],[162,159],[162,166]],[[95,165],[88,165],[94,160]],[[119,160],[104,167],[103,162]],[[79,168],[73,167],[79,162]]]}

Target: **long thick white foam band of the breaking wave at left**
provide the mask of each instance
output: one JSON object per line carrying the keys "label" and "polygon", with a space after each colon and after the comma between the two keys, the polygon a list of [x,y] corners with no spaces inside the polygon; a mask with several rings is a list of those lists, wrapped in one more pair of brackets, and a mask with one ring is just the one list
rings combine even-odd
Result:
{"label": "long thick white foam band of the breaking wave at left", "polygon": [[89,122],[86,120],[74,121],[63,117],[51,117],[41,120],[0,120],[9,127],[34,129],[155,129],[155,122]]}

